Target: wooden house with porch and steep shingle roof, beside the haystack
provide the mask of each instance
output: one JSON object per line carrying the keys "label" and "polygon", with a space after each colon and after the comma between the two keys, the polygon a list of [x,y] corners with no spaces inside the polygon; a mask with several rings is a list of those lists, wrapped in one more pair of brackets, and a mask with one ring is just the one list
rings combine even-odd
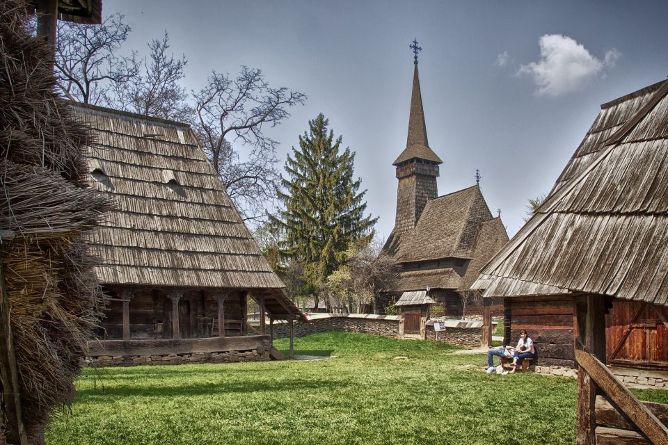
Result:
{"label": "wooden house with porch and steep shingle roof, beside the haystack", "polygon": [[110,296],[100,338],[244,336],[249,296],[271,319],[304,319],[189,125],[71,108],[95,133],[91,183],[116,204],[90,238]]}

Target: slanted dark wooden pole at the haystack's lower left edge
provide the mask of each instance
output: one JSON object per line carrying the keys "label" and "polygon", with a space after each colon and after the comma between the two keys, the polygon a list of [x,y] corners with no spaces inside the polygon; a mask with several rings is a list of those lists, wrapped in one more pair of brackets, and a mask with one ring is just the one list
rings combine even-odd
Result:
{"label": "slanted dark wooden pole at the haystack's lower left edge", "polygon": [[2,396],[4,412],[7,418],[7,437],[9,444],[26,445],[28,436],[23,424],[21,410],[21,387],[19,369],[14,353],[14,341],[10,324],[9,302],[5,287],[5,275],[0,263],[0,377],[2,378]]}

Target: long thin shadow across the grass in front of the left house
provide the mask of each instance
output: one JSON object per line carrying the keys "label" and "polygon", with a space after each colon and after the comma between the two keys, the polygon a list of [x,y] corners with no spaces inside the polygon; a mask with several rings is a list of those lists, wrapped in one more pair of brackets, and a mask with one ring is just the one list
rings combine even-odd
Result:
{"label": "long thin shadow across the grass in front of the left house", "polygon": [[218,383],[200,383],[195,385],[178,385],[178,386],[154,386],[154,387],[137,387],[132,385],[116,385],[113,387],[105,387],[104,389],[80,389],[77,391],[79,397],[95,397],[100,396],[108,398],[109,396],[116,397],[166,397],[173,398],[175,396],[212,396],[215,394],[246,394],[253,392],[294,392],[296,389],[318,389],[332,390],[349,387],[346,382],[340,381],[314,381],[304,379],[291,379],[281,382],[276,381],[261,381],[261,382],[218,382]]}

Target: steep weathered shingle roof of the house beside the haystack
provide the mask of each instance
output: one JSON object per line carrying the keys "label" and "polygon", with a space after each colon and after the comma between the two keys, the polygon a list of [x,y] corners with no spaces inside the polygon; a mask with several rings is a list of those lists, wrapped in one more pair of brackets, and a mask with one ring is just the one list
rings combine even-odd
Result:
{"label": "steep weathered shingle roof of the house beside the haystack", "polygon": [[269,312],[299,314],[189,125],[71,108],[96,136],[91,183],[116,203],[90,238],[103,284],[261,289]]}

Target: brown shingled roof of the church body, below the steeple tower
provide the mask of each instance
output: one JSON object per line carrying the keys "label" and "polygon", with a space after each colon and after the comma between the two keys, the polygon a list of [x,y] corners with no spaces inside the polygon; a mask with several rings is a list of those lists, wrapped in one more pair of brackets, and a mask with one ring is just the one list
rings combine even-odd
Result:
{"label": "brown shingled roof of the church body, below the steeple tower", "polygon": [[[452,268],[420,271],[429,272],[425,275],[401,273],[401,289],[406,288],[403,282],[409,278],[413,282],[412,289],[424,289],[427,285],[441,289],[468,289],[480,267],[507,241],[501,219],[492,217],[476,185],[427,201],[415,229],[392,231],[384,249],[399,263],[444,258],[471,260],[463,277]],[[440,274],[443,286],[427,284],[434,279],[427,277],[434,274]],[[418,283],[424,286],[415,287]]]}

